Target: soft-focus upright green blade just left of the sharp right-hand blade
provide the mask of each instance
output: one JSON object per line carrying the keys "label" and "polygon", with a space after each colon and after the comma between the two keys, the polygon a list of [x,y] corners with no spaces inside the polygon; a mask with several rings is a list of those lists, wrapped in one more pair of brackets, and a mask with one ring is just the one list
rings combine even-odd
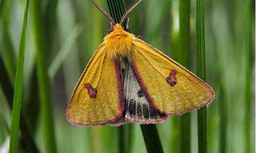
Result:
{"label": "soft-focus upright green blade just left of the sharp right-hand blade", "polygon": [[[190,68],[190,0],[179,1],[180,15],[180,34],[179,34],[179,53],[177,62]],[[180,116],[180,135],[181,135],[181,152],[190,152],[190,113]]]}

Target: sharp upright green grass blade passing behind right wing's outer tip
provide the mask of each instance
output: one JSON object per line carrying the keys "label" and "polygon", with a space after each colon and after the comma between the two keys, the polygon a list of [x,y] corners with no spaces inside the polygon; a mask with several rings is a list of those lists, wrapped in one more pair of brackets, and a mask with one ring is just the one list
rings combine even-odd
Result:
{"label": "sharp upright green grass blade passing behind right wing's outer tip", "polygon": [[[196,73],[205,81],[205,43],[204,43],[204,4],[203,0],[196,3]],[[206,107],[197,111],[198,118],[198,149],[199,153],[207,151]]]}

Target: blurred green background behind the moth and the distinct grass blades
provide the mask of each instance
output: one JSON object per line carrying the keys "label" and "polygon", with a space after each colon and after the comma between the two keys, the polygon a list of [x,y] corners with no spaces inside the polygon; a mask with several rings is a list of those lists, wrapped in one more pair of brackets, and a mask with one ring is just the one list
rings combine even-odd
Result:
{"label": "blurred green background behind the moth and the distinct grass blades", "polygon": [[[97,1],[108,10],[104,0]],[[124,1],[126,9],[136,1]],[[0,149],[8,146],[15,65],[22,30],[24,1],[0,0]],[[33,5],[33,4],[32,4]],[[40,152],[45,152],[36,78],[36,24],[28,12],[22,110]],[[54,131],[58,152],[119,152],[119,127],[77,127],[67,122],[66,107],[88,60],[110,29],[109,20],[89,0],[39,2],[39,44],[50,78]],[[208,152],[255,152],[255,2],[246,0],[204,1],[206,81],[216,92],[207,108]],[[143,36],[170,57],[179,44],[179,1],[143,1],[130,16],[133,34]],[[196,0],[190,1],[190,70],[195,70]],[[188,44],[182,44],[188,45]],[[62,62],[63,61],[63,62]],[[54,63],[54,64],[53,64]],[[6,69],[6,70],[4,70]],[[8,94],[9,93],[9,94]],[[9,97],[8,97],[9,96]],[[191,152],[198,152],[197,112],[191,113]],[[139,124],[123,126],[129,136],[127,152],[146,152]],[[180,152],[179,116],[157,124],[165,152]],[[127,137],[128,139],[128,137]],[[19,152],[25,151],[23,144]],[[1,151],[0,151],[1,152]]]}

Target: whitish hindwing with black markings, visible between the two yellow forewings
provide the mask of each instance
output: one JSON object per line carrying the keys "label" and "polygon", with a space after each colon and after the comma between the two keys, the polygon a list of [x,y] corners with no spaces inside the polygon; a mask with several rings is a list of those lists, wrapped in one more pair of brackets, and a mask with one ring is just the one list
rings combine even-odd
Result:
{"label": "whitish hindwing with black markings, visible between the two yellow forewings", "polygon": [[125,98],[124,118],[139,123],[161,122],[166,115],[155,111],[143,95],[143,91],[128,62],[121,62],[123,71],[123,94]]}

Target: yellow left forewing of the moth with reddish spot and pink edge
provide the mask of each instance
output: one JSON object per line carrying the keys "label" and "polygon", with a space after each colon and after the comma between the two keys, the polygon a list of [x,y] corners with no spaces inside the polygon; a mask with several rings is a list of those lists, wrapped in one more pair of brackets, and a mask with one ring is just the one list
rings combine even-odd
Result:
{"label": "yellow left forewing of the moth with reddish spot and pink edge", "polygon": [[70,99],[66,117],[75,125],[102,125],[117,120],[124,110],[120,69],[108,58],[104,44],[84,69]]}

